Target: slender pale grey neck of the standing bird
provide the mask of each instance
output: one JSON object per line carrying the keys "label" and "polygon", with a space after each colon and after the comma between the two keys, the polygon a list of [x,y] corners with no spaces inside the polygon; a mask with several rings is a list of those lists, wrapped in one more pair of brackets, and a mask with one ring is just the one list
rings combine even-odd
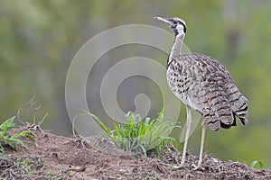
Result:
{"label": "slender pale grey neck of the standing bird", "polygon": [[172,48],[171,53],[169,54],[169,57],[167,60],[167,66],[170,65],[173,58],[176,58],[181,55],[184,35],[185,35],[184,33],[179,33],[176,35],[174,43],[173,43],[173,48]]}

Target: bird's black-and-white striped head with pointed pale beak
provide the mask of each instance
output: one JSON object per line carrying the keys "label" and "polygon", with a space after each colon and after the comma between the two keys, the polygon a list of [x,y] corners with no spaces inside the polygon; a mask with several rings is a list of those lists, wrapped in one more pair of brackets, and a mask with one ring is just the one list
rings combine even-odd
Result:
{"label": "bird's black-and-white striped head with pointed pale beak", "polygon": [[154,17],[154,19],[166,23],[171,30],[174,32],[175,36],[178,34],[185,34],[186,32],[186,23],[178,17],[173,18],[164,18],[164,17]]}

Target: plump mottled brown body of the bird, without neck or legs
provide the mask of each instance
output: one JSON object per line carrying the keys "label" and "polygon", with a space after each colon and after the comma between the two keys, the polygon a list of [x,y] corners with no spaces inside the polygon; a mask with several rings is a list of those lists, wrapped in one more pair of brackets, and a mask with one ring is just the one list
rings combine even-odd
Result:
{"label": "plump mottled brown body of the bird, without neck or legs", "polygon": [[248,100],[229,71],[209,56],[192,53],[173,58],[167,67],[168,84],[183,103],[201,112],[210,130],[236,125],[237,116],[248,121]]}

